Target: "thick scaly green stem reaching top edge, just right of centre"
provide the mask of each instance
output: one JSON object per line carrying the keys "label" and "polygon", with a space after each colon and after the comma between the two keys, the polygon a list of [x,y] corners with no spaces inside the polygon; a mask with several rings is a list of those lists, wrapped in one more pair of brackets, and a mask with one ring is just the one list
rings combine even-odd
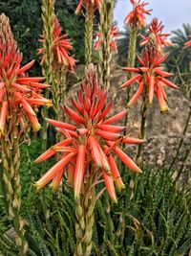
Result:
{"label": "thick scaly green stem reaching top edge, just right of centre", "polygon": [[114,1],[103,0],[100,11],[99,31],[100,50],[99,50],[99,77],[103,86],[108,91],[110,88],[110,64],[112,59],[111,53],[111,27],[113,22]]}

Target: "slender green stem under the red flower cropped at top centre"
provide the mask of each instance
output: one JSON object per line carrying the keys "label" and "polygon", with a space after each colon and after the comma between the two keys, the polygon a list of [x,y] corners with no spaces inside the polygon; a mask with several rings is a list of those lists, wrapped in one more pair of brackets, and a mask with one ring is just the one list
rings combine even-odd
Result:
{"label": "slender green stem under the red flower cropped at top centre", "polygon": [[92,63],[94,12],[87,9],[85,17],[85,62]]}

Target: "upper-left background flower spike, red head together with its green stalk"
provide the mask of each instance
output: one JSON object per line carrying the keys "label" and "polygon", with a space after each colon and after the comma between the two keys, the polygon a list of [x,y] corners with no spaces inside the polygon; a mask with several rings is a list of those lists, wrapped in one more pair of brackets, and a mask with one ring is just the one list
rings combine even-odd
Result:
{"label": "upper-left background flower spike, red head together with its green stalk", "polygon": [[[63,116],[60,109],[60,103],[64,102],[67,94],[66,74],[69,69],[71,72],[74,72],[75,64],[75,59],[70,56],[70,51],[73,49],[71,41],[67,38],[68,35],[61,35],[61,33],[62,28],[59,24],[58,19],[54,15],[53,37],[51,39],[51,52],[53,55],[53,61],[51,63],[52,86],[50,88],[50,91],[53,97],[53,110],[56,119],[61,119]],[[42,35],[42,39],[40,39],[40,41],[44,44],[47,41],[47,36]],[[42,56],[41,63],[46,63],[46,59],[48,57],[46,55],[46,50],[44,47],[38,49],[38,54]]]}

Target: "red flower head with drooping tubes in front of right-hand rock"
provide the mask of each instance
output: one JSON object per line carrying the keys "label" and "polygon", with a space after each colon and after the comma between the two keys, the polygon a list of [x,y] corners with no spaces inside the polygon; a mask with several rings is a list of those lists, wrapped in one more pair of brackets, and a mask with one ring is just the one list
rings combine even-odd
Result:
{"label": "red flower head with drooping tubes in front of right-hand rock", "polygon": [[167,58],[168,55],[161,56],[159,54],[158,48],[156,45],[149,43],[145,50],[142,52],[141,58],[138,57],[138,62],[141,67],[132,68],[124,67],[123,70],[128,72],[135,72],[137,75],[130,79],[129,81],[124,82],[120,87],[124,88],[132,84],[133,82],[138,82],[138,90],[136,94],[132,97],[129,102],[129,106],[133,105],[137,100],[140,94],[146,89],[148,102],[151,105],[153,102],[154,94],[156,94],[159,100],[160,110],[168,110],[167,98],[164,92],[164,87],[172,87],[178,89],[179,87],[174,84],[172,81],[168,81],[166,78],[172,76],[172,74],[165,72],[163,67],[159,65]]}

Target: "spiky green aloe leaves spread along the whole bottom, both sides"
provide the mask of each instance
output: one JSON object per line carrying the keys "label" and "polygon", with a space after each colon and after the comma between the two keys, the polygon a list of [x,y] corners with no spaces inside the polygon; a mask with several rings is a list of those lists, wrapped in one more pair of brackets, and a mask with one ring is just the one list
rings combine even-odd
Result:
{"label": "spiky green aloe leaves spread along the whole bottom, both sides", "polygon": [[[29,255],[68,256],[75,246],[73,190],[65,185],[53,194],[49,188],[36,194],[32,180],[41,173],[39,164],[27,172],[27,146],[21,147],[21,177],[24,185],[22,215],[27,222]],[[32,139],[33,160],[41,151],[41,140]],[[49,168],[49,166],[47,167]],[[44,173],[45,171],[43,171]],[[107,193],[96,202],[96,225],[92,255],[187,255],[191,244],[191,194],[172,182],[166,170],[145,169],[143,174],[124,175],[126,189],[111,204]],[[101,187],[98,188],[100,190]],[[17,255],[9,221],[0,221],[0,254]],[[10,231],[8,232],[10,233]]]}

